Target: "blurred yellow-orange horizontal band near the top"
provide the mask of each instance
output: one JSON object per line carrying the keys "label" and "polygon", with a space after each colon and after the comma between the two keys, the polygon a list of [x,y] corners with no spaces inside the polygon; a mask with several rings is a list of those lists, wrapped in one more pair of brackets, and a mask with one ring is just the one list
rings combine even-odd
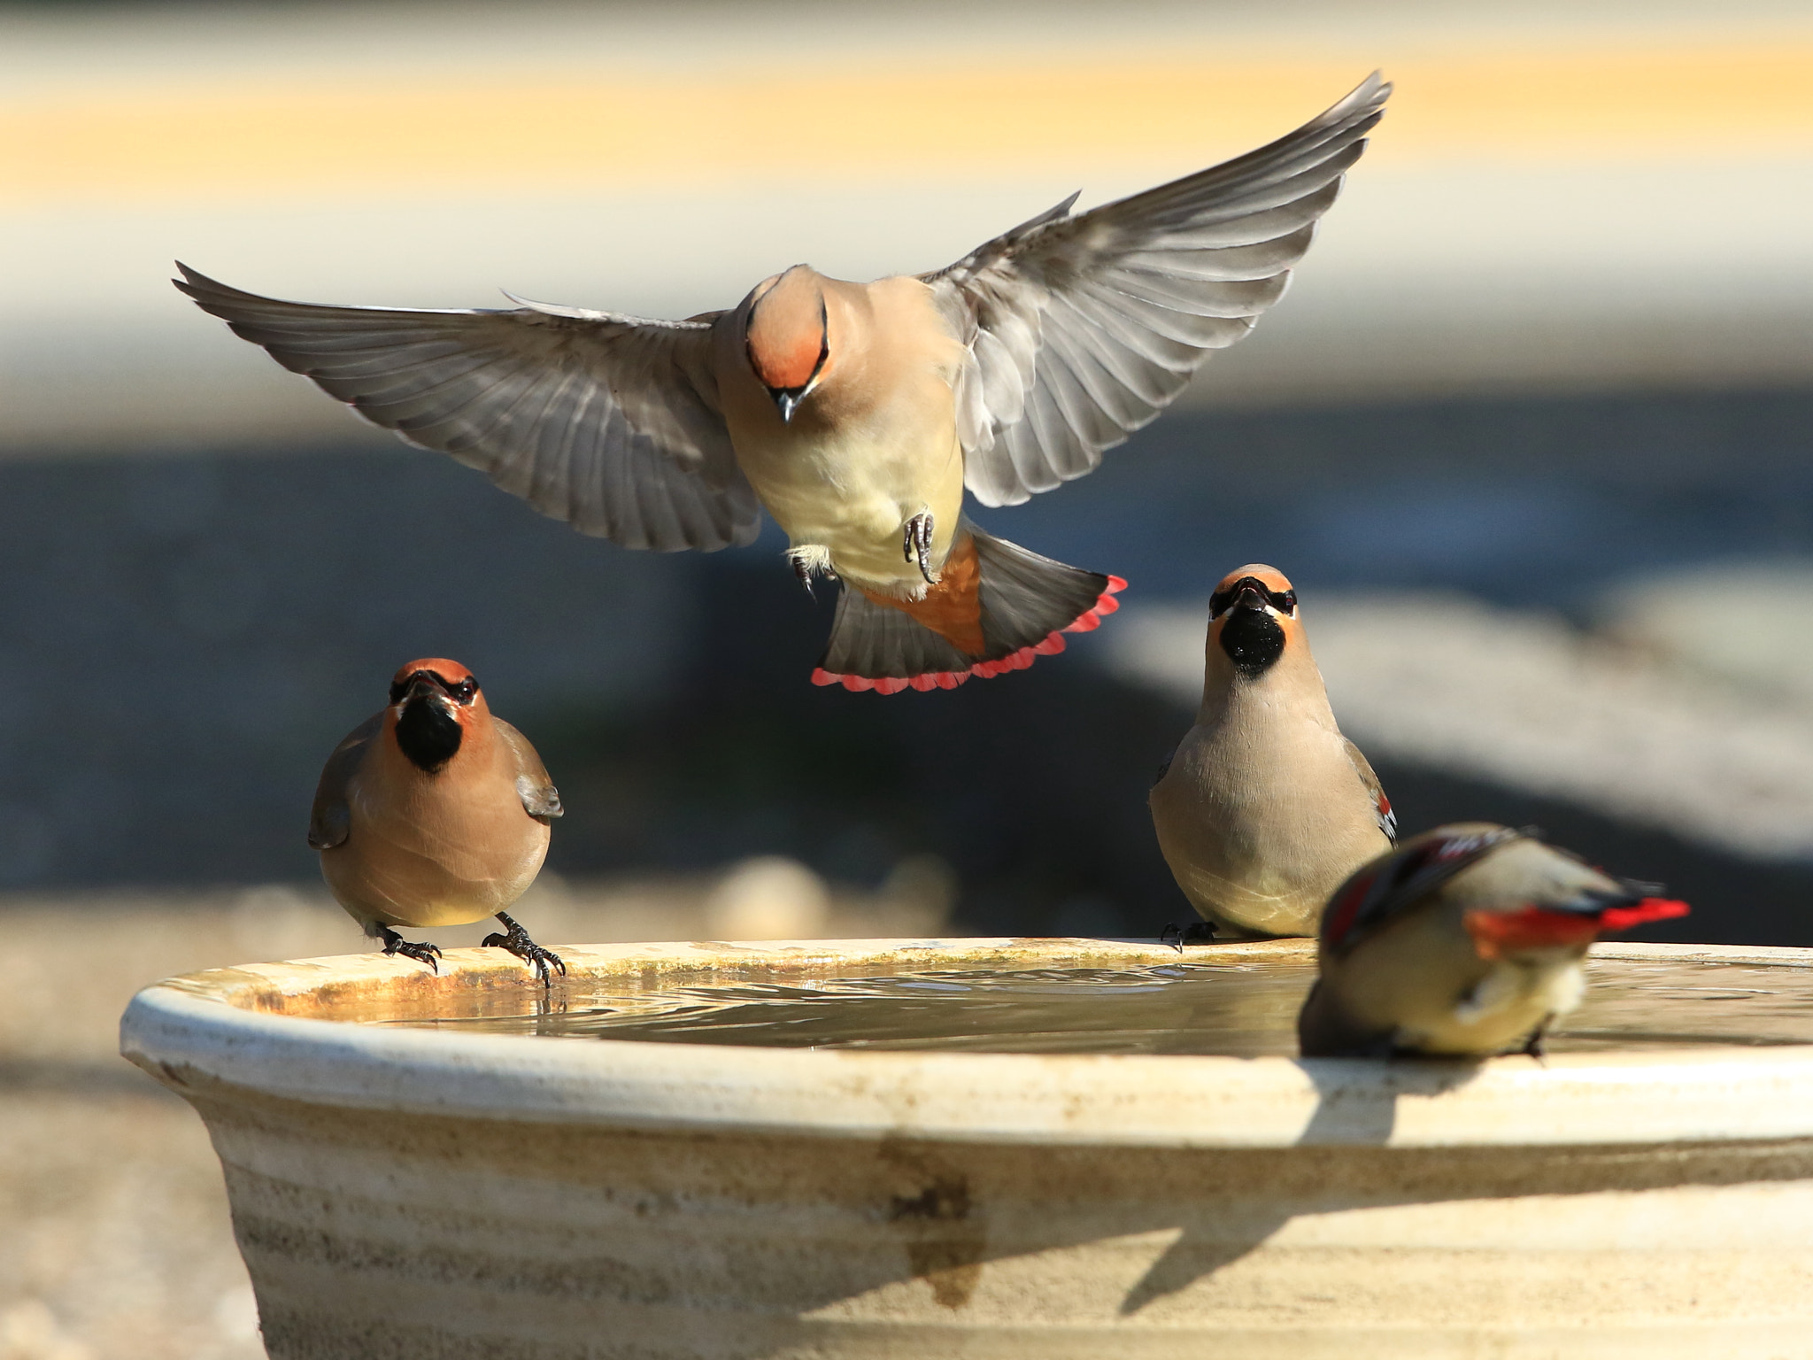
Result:
{"label": "blurred yellow-orange horizontal band near the top", "polygon": [[[1285,132],[1347,60],[876,63],[841,74],[573,71],[107,89],[0,100],[0,201],[147,203],[613,187],[1177,174]],[[1412,56],[1372,163],[1813,152],[1813,40]]]}

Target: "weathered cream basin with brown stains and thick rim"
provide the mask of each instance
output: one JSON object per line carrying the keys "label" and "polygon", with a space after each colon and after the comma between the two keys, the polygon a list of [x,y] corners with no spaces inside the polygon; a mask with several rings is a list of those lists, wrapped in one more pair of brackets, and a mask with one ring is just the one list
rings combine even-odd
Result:
{"label": "weathered cream basin with brown stains and thick rim", "polygon": [[[1175,957],[1081,939],[562,952],[577,981]],[[1813,1356],[1813,1046],[1474,1066],[321,1019],[522,986],[515,959],[450,950],[439,977],[361,954],[132,1001],[121,1048],[207,1121],[277,1360]]]}

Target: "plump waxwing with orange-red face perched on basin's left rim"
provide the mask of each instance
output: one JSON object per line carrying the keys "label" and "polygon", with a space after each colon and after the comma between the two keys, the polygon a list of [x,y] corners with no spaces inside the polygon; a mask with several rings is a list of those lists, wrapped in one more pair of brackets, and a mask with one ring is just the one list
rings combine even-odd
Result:
{"label": "plump waxwing with orange-red face perched on basin's left rim", "polygon": [[566,974],[504,910],[548,856],[548,825],[560,816],[542,758],[529,740],[491,716],[479,682],[459,662],[428,656],[390,682],[390,705],[334,747],[308,843],[321,876],[384,954],[439,972],[441,950],[402,939],[393,927],[464,925],[495,916],[486,936],[535,968]]}

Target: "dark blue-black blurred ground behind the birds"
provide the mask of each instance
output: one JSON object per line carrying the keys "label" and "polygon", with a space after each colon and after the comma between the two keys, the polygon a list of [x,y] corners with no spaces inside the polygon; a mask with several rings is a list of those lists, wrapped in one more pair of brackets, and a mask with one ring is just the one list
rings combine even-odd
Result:
{"label": "dark blue-black blurred ground behind the birds", "polygon": [[[981,519],[1128,577],[1128,600],[1269,560],[1304,591],[1581,611],[1650,568],[1813,553],[1809,428],[1808,392],[1178,412]],[[783,852],[874,887],[932,852],[965,928],[1149,934],[1186,910],[1144,791],[1188,713],[1091,664],[1104,635],[954,693],[816,689],[829,593],[780,548],[620,551],[402,446],[4,462],[0,883],[312,879],[325,753],[397,664],[451,655],[562,785],[562,874]],[[1409,827],[1537,821],[1692,896],[1684,937],[1813,943],[1806,867],[1382,763]]]}

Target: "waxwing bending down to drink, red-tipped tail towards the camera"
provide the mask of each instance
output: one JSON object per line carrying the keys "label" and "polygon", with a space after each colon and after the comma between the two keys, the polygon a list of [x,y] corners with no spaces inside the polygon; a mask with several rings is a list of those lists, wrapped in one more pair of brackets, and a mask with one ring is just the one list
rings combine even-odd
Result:
{"label": "waxwing bending down to drink, red-tipped tail towards the camera", "polygon": [[1490,821],[1412,836],[1329,899],[1304,1055],[1541,1055],[1594,939],[1688,914],[1655,890]]}

